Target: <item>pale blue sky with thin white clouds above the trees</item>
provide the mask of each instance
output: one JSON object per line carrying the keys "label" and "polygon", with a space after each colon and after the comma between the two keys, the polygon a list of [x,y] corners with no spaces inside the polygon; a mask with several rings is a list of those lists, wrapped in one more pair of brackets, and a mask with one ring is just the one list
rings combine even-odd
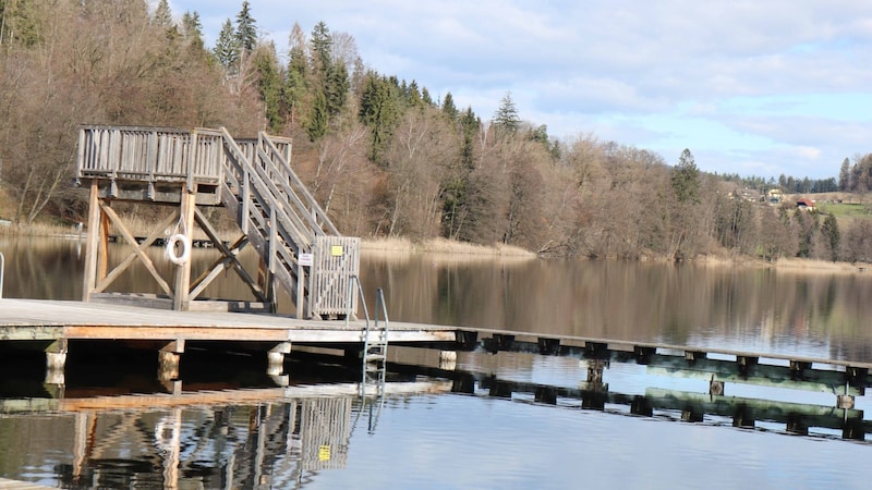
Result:
{"label": "pale blue sky with thin white clouds above the trees", "polygon": [[[154,0],[152,0],[154,2]],[[208,47],[242,0],[170,0]],[[707,172],[837,177],[872,151],[868,0],[250,0],[264,39],[351,35],[367,68],[489,120],[509,94],[553,138],[685,148]]]}

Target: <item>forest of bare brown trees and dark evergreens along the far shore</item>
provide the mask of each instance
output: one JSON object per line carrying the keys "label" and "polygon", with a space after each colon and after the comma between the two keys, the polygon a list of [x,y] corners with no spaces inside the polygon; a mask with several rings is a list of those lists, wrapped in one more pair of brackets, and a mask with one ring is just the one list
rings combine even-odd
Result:
{"label": "forest of bare brown trees and dark evergreens along the far shore", "polygon": [[[521,118],[510,93],[494,114],[379,73],[352,34],[293,25],[258,36],[247,1],[206,46],[197,12],[166,0],[0,0],[0,194],[17,226],[82,221],[74,188],[82,124],[218,127],[293,138],[295,171],[339,230],[362,237],[508,244],[620,259],[872,259],[872,220],[799,212],[742,191],[872,187],[872,156],[838,177],[741,177],[698,169],[688,142],[668,159],[602,140],[557,140]],[[765,194],[762,194],[765,196]]]}

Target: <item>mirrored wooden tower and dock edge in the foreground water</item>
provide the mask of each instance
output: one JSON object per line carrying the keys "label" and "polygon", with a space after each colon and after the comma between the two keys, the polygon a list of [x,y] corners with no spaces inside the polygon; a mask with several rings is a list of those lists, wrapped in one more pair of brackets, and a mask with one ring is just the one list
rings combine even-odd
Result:
{"label": "mirrored wooden tower and dock edge in the foreground water", "polygon": [[[450,381],[391,382],[384,393],[400,397],[450,387]],[[37,425],[46,420],[35,413],[57,414],[51,418],[59,426],[57,450],[72,456],[58,477],[76,488],[133,480],[178,488],[182,478],[202,488],[299,488],[312,471],[346,467],[359,395],[359,383],[338,383],[0,400],[0,417]],[[32,441],[9,443],[27,451]],[[156,467],[162,467],[162,481],[154,482]]]}

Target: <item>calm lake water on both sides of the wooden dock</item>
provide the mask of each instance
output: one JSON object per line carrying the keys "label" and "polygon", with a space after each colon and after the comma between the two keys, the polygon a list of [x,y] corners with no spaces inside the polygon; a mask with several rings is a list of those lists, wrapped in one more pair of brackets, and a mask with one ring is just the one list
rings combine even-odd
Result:
{"label": "calm lake water on both sides of the wooden dock", "polygon": [[[75,242],[0,240],[0,252],[4,297],[81,296]],[[214,258],[195,252],[195,270]],[[863,273],[365,253],[361,277],[366,291],[385,290],[392,320],[872,362]],[[144,269],[124,281],[119,290],[157,292]],[[231,274],[207,294],[245,297]],[[218,370],[185,354],[184,403],[150,368],[71,358],[60,394],[38,366],[4,360],[0,477],[64,488],[869,486],[870,395],[850,416],[867,429],[846,440],[832,393],[728,383],[742,403],[694,418],[674,399],[705,397],[705,380],[634,363],[613,362],[606,394],[592,396],[578,394],[588,384],[579,359],[461,353],[446,371],[435,352],[395,356],[409,367],[389,373],[383,404],[355,396],[355,367],[307,356],[289,363],[291,387],[280,389],[256,366],[221,360]],[[537,402],[545,388],[552,403]],[[799,424],[802,436],[777,416],[734,427],[737,412],[763,403],[824,415]]]}

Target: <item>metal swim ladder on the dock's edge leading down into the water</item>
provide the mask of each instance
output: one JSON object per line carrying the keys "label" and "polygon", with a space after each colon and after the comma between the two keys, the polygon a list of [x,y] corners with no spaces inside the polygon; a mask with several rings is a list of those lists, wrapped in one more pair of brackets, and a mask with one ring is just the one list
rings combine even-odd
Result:
{"label": "metal swim ladder on the dock's edge leading down into the water", "polygon": [[[360,278],[356,275],[352,275],[352,280],[349,282],[349,295],[354,294],[354,286],[358,287],[358,292],[360,294],[360,303],[363,305],[364,317],[364,327],[361,332],[361,338],[363,340],[363,355],[361,356],[362,372],[361,383],[358,390],[358,395],[361,400],[361,407],[360,412],[358,412],[358,416],[360,417],[360,414],[365,412],[367,408],[367,401],[370,399],[370,390],[367,390],[367,387],[374,385],[374,401],[373,403],[368,404],[368,430],[370,432],[373,432],[375,431],[375,426],[378,422],[378,414],[382,412],[382,407],[385,404],[385,376],[387,373],[389,331],[388,311],[385,303],[385,293],[379,287],[376,290],[375,318],[371,327],[370,311],[366,307],[366,301],[363,295]],[[348,304],[350,305],[351,302],[349,301]],[[347,326],[350,317],[351,311],[346,315]]]}

